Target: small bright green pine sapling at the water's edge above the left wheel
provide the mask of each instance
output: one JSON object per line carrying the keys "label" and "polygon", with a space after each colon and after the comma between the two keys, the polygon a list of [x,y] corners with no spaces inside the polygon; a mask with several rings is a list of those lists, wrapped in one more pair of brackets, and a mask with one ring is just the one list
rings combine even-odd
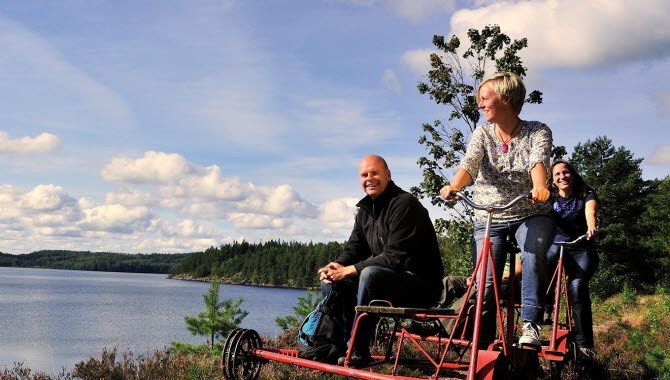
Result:
{"label": "small bright green pine sapling at the water's edge above the left wheel", "polygon": [[214,341],[217,338],[226,336],[249,314],[246,310],[240,309],[243,302],[241,298],[235,301],[231,299],[219,301],[220,288],[221,284],[212,282],[209,290],[202,295],[205,311],[197,317],[184,317],[188,331],[193,335],[208,337],[207,344],[210,348],[214,348]]}

